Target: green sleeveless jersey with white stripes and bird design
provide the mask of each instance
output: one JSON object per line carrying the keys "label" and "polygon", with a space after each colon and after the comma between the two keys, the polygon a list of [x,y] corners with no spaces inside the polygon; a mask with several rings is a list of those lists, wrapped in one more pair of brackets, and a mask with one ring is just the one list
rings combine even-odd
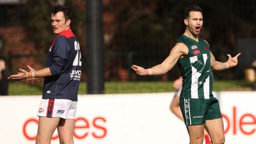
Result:
{"label": "green sleeveless jersey with white stripes and bird design", "polygon": [[186,44],[189,49],[188,54],[178,60],[183,79],[180,98],[213,98],[210,46],[203,39],[198,38],[197,42],[186,35],[177,42]]}

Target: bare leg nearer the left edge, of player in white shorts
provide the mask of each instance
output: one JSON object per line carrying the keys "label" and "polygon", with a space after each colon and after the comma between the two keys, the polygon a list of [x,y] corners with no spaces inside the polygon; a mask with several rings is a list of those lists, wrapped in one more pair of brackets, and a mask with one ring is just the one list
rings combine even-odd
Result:
{"label": "bare leg nearer the left edge, of player in white shorts", "polygon": [[36,144],[50,144],[52,135],[59,124],[60,118],[39,117]]}

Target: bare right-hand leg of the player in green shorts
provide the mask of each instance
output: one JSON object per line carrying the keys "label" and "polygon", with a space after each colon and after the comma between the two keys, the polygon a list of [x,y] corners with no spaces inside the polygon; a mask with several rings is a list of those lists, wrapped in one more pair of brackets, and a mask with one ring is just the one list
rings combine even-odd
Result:
{"label": "bare right-hand leg of the player in green shorts", "polygon": [[204,127],[210,135],[210,144],[224,144],[225,137],[222,118],[218,118],[215,120],[206,120]]}

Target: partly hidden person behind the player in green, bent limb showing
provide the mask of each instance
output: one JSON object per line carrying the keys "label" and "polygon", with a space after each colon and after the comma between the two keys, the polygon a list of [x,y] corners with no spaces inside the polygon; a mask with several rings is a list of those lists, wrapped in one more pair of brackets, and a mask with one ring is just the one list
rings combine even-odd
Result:
{"label": "partly hidden person behind the player in green, bent limb showing", "polygon": [[[181,76],[180,76],[180,78],[176,79],[173,82],[173,88],[176,90],[176,93],[173,96],[173,100],[171,102],[170,109],[178,118],[180,118],[181,120],[184,121],[182,112],[180,110],[180,92],[182,90],[182,77]],[[211,142],[210,137],[205,129],[204,129],[204,140],[205,140],[205,144],[210,144],[210,142]]]}

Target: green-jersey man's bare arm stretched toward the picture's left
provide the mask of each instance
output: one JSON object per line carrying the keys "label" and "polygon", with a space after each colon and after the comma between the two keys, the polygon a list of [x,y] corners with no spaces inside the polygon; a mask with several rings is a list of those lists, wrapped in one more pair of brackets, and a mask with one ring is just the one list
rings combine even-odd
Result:
{"label": "green-jersey man's bare arm stretched toward the picture's left", "polygon": [[132,65],[131,68],[141,76],[162,75],[171,70],[177,63],[178,59],[184,55],[187,55],[187,53],[187,46],[183,43],[177,43],[171,50],[169,56],[163,61],[163,63],[148,69],[137,65]]}

